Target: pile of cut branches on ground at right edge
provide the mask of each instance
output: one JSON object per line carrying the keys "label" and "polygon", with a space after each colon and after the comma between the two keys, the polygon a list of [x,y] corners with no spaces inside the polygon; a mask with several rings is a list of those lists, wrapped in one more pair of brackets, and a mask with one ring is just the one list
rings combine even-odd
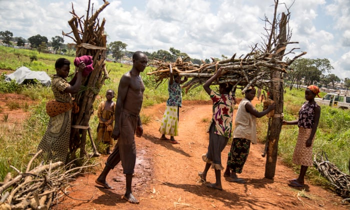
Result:
{"label": "pile of cut branches on ground at right edge", "polygon": [[313,165],[334,187],[334,191],[343,201],[350,202],[350,175],[341,172],[332,162],[328,161],[325,152],[314,154]]}

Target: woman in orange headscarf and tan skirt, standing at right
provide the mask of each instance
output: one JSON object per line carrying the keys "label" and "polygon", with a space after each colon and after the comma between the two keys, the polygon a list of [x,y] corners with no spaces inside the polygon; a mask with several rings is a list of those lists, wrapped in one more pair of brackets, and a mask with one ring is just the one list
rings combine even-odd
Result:
{"label": "woman in orange headscarf and tan skirt, standing at right", "polygon": [[300,173],[297,178],[289,180],[289,186],[303,187],[304,176],[308,166],[312,166],[312,145],[317,130],[320,106],[314,98],[319,93],[316,85],[309,85],[305,90],[305,102],[299,110],[299,118],[293,121],[283,120],[283,124],[297,124],[299,132],[293,153],[293,163],[300,165]]}

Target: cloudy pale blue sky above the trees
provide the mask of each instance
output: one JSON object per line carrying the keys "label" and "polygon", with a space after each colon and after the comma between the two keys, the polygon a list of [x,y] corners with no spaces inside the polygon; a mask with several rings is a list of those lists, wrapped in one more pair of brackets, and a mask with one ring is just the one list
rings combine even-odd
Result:
{"label": "cloudy pale blue sky above the trees", "polygon": [[[294,3],[293,3],[294,1]],[[0,31],[28,38],[70,32],[71,3],[84,15],[88,0],[0,0]],[[91,0],[99,8],[103,0]],[[205,59],[246,54],[260,42],[264,15],[272,18],[273,0],[109,0],[107,42],[122,41],[130,51],[169,50]],[[279,0],[290,7],[291,41],[305,58],[328,58],[332,73],[350,77],[350,0]],[[279,6],[285,11],[284,4]],[[72,42],[64,36],[64,42]],[[293,55],[291,55],[293,56]]]}

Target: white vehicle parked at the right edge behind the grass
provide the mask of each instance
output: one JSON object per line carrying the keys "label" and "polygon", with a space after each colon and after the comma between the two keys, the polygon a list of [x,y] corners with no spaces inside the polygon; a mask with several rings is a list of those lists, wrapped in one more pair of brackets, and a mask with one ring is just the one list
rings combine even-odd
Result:
{"label": "white vehicle parked at the right edge behind the grass", "polygon": [[346,93],[327,93],[322,98],[315,97],[318,104],[329,105],[332,107],[349,109],[350,108],[350,94]]}

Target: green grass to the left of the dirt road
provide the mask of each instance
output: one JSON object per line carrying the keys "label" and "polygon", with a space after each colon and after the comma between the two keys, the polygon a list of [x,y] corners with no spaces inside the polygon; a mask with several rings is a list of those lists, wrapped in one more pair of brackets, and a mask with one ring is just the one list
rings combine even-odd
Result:
{"label": "green grass to the left of the dirt road", "polygon": [[[30,56],[33,55],[37,57],[37,60],[30,61]],[[73,63],[74,57],[46,53],[38,54],[36,51],[28,49],[14,49],[0,46],[0,68],[2,69],[15,70],[17,67],[24,65],[34,71],[46,71],[47,69],[47,73],[52,75],[55,73],[54,62],[59,57],[65,57]],[[106,62],[109,78],[105,80],[104,85],[101,87],[93,103],[94,112],[89,122],[93,138],[97,136],[96,127],[98,119],[96,117],[96,111],[99,102],[105,100],[105,92],[107,89],[114,90],[115,97],[113,100],[116,100],[119,79],[122,74],[130,70],[131,67],[131,65],[127,64]],[[74,66],[71,64],[71,72],[73,68]],[[151,67],[147,67],[145,71],[140,74],[146,87],[142,104],[143,107],[164,102],[168,97],[167,80],[155,88],[152,76],[146,75],[149,71],[151,71]],[[48,123],[49,117],[45,112],[45,103],[47,100],[53,98],[50,87],[45,87],[40,84],[19,85],[14,81],[5,82],[3,78],[4,74],[1,75],[0,93],[14,92],[23,94],[38,103],[29,107],[24,104],[23,108],[26,111],[30,111],[30,117],[24,121],[22,128],[10,129],[6,125],[0,127],[0,133],[9,133],[6,135],[0,134],[0,157],[3,157],[0,158],[0,180],[3,179],[7,171],[13,171],[9,165],[13,165],[21,171],[25,170],[27,162],[32,157],[32,154],[36,152],[37,144],[41,140]],[[183,99],[207,100],[208,97],[201,87],[197,87],[187,94],[183,92]],[[11,106],[14,107],[14,105]],[[142,123],[147,124],[150,119],[150,116],[141,114]],[[7,118],[2,120],[7,121]],[[91,152],[91,145],[88,138],[86,143],[87,152]],[[105,145],[98,144],[96,146],[99,148]]]}

